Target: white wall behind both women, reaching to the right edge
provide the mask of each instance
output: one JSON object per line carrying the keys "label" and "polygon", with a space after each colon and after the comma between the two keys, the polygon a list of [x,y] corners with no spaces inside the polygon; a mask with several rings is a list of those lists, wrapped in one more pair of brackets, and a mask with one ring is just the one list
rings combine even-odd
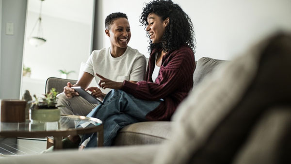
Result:
{"label": "white wall behind both women, reaching to the right edge", "polygon": [[[144,2],[150,0],[102,0],[102,21],[113,12],[129,17],[129,46],[147,52],[144,27],[140,27]],[[277,30],[291,31],[291,0],[173,0],[192,18],[198,60],[207,56],[230,60],[257,40]],[[103,31],[104,31],[103,23]],[[110,42],[103,33],[103,45]]]}

